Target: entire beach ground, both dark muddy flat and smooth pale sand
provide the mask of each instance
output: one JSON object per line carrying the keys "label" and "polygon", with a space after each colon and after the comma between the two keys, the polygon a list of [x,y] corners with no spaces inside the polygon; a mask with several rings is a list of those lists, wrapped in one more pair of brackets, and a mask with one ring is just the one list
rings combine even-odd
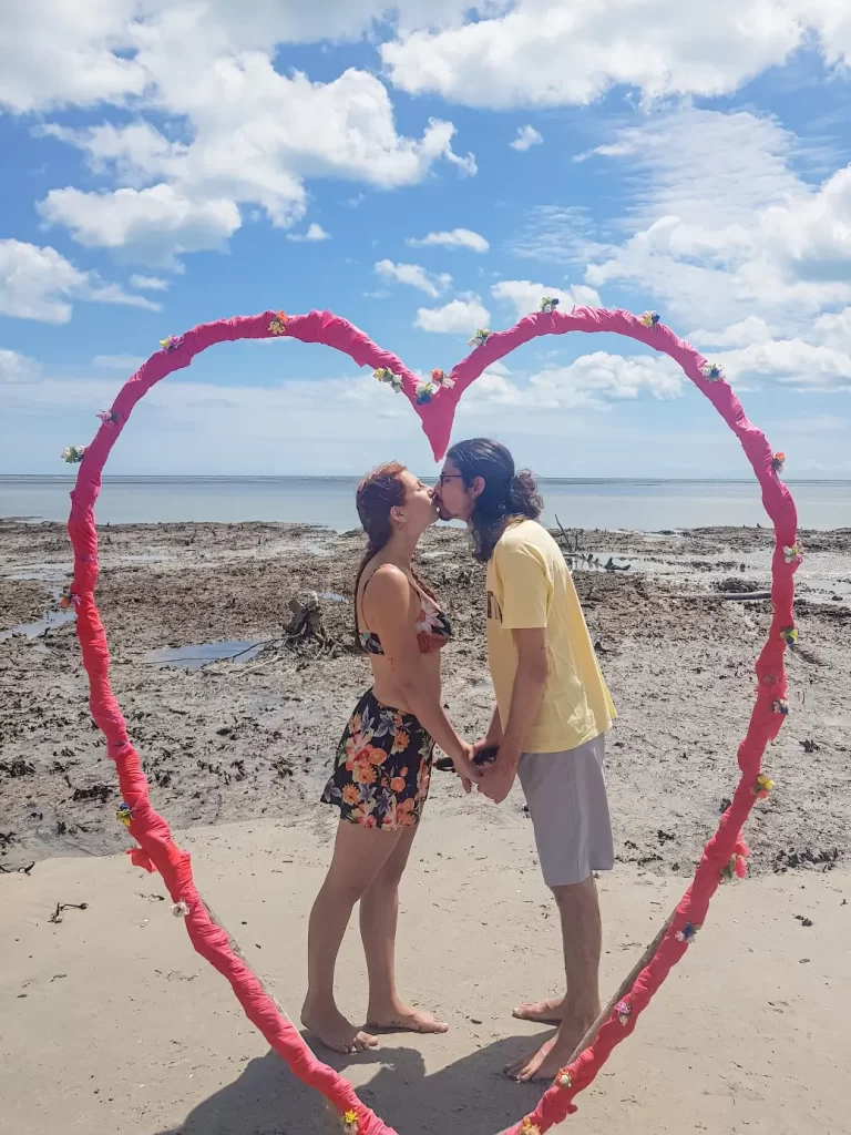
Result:
{"label": "entire beach ground, both dark muddy flat and smooth pale sand", "polygon": [[[617,865],[600,881],[608,993],[682,893],[734,788],[770,609],[719,596],[762,590],[770,533],[595,532],[579,543],[632,565],[575,572],[620,712],[608,770]],[[851,1056],[851,532],[804,533],[802,544],[791,715],[766,754],[777,787],[745,833],[751,877],[722,889],[637,1035],[565,1129],[609,1132],[626,1120],[648,1135],[851,1130],[839,1074]],[[40,619],[70,556],[57,524],[0,522],[0,549],[2,631]],[[359,552],[355,533],[293,526],[101,529],[98,598],[112,681],[153,804],[193,850],[200,889],[293,1014],[332,832],[317,799],[368,684],[365,662],[347,649],[343,602]],[[472,738],[491,708],[482,570],[453,530],[429,536],[421,566],[453,616],[445,701]],[[290,641],[289,600],[311,590],[327,640]],[[158,662],[162,649],[201,657],[225,640],[268,645],[247,661],[194,670]],[[158,877],[121,854],[129,840],[115,819],[120,798],[92,728],[73,624],[0,641],[0,1130],[334,1130],[192,952],[155,897]],[[54,924],[57,902],[87,907]],[[539,1094],[498,1075],[524,1037],[541,1034],[512,1020],[511,1008],[559,984],[554,913],[522,797],[496,808],[436,774],[403,903],[404,989],[452,1032],[387,1037],[380,1052],[335,1066],[402,1135],[496,1135]],[[363,1011],[355,939],[339,990],[344,1008]]]}

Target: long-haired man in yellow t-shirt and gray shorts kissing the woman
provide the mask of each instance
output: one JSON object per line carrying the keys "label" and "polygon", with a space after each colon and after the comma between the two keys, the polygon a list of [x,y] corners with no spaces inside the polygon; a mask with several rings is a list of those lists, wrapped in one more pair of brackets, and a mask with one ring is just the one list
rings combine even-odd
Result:
{"label": "long-haired man in yellow t-shirt and gray shorts kissing the woman", "polygon": [[531,473],[515,473],[497,442],[460,442],[438,489],[444,520],[466,521],[487,563],[488,665],[497,706],[474,753],[498,746],[479,791],[500,804],[525,793],[544,880],[562,920],[567,991],[514,1016],[558,1025],[506,1068],[517,1081],[553,1079],[600,1011],[600,909],[596,871],[614,848],[604,780],[605,734],[615,716],[564,556],[539,523]]}

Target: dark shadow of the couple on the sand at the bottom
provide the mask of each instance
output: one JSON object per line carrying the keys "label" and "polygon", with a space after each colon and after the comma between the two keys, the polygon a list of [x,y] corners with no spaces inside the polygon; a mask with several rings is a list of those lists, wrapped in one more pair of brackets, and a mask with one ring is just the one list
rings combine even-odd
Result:
{"label": "dark shadow of the couple on the sand at the bottom", "polygon": [[[521,1085],[504,1065],[531,1046],[529,1036],[496,1041],[430,1076],[422,1054],[380,1048],[329,1059],[345,1075],[346,1061],[380,1063],[357,1094],[399,1135],[498,1135],[530,1112],[546,1085]],[[177,1127],[158,1135],[332,1135],[339,1117],[305,1087],[277,1053],[252,1060],[233,1084],[200,1103]]]}

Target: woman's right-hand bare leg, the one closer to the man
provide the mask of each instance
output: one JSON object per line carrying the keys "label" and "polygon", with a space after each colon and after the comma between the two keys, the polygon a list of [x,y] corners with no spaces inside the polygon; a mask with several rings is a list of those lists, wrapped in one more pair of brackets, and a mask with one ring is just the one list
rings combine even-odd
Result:
{"label": "woman's right-hand bare leg, the one closer to the man", "polygon": [[399,881],[415,835],[416,827],[403,829],[402,838],[361,899],[361,939],[370,978],[366,1027],[445,1033],[447,1025],[430,1012],[412,1009],[396,991]]}

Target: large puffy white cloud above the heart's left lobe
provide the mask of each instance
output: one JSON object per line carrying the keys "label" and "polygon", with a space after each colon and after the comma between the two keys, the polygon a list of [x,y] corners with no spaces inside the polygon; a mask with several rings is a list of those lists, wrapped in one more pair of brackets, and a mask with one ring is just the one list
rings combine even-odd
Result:
{"label": "large puffy white cloud above the heart's left lobe", "polygon": [[[76,239],[172,267],[182,252],[221,247],[239,227],[241,205],[260,207],[278,227],[296,224],[310,178],[391,190],[421,182],[439,161],[462,176],[475,173],[473,155],[453,150],[452,123],[432,118],[420,137],[399,135],[390,96],[374,75],[349,68],[328,83],[283,75],[273,44],[237,50],[222,34],[222,14],[208,15],[217,14],[220,23],[200,23],[201,8],[178,5],[128,33],[148,81],[137,112],[169,116],[169,133],[180,141],[141,117],[39,131],[81,149],[93,170],[118,186],[112,194],[56,190],[42,203]],[[89,218],[93,207],[103,220]],[[166,253],[172,241],[179,247]]]}

